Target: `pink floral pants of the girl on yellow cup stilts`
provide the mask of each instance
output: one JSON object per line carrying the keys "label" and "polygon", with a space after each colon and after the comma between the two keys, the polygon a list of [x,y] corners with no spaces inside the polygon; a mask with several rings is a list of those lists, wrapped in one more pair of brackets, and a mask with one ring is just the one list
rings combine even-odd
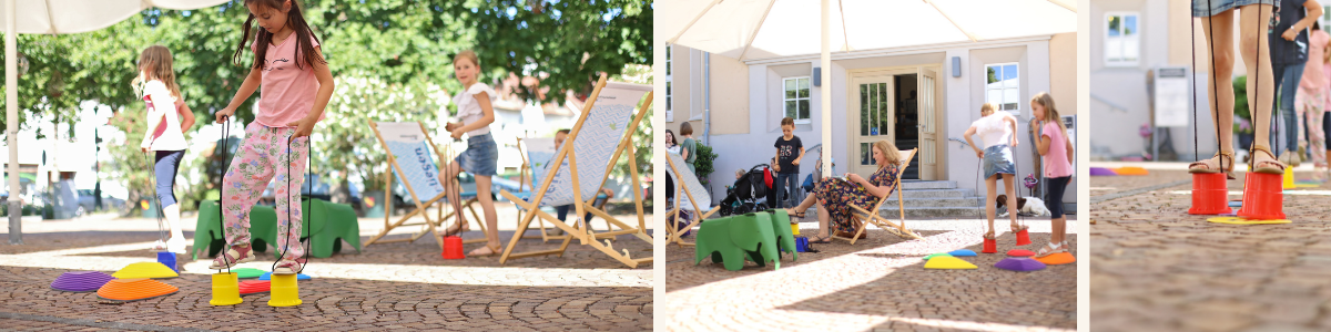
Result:
{"label": "pink floral pants of the girl on yellow cup stilts", "polygon": [[[305,256],[301,247],[301,185],[305,182],[309,137],[287,139],[295,127],[269,127],[250,122],[245,127],[245,141],[232,158],[232,167],[222,179],[222,220],[226,226],[226,243],[244,246],[250,243],[250,208],[260,199],[269,182],[277,181],[273,197],[277,198],[277,250],[286,252],[284,259]],[[294,175],[293,175],[294,174]],[[290,202],[297,202],[291,205]],[[290,218],[287,219],[287,207]]]}

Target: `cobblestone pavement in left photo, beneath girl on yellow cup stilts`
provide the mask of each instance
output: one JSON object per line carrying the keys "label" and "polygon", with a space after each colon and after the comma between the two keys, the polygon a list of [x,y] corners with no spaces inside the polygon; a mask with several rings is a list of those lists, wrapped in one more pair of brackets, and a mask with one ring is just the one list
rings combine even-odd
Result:
{"label": "cobblestone pavement in left photo, beneath girl on yellow cup stilts", "polygon": [[[367,234],[377,234],[382,222],[362,219],[362,242]],[[526,258],[503,266],[496,256],[445,260],[430,236],[415,243],[373,244],[362,254],[345,246],[342,254],[311,260],[305,274],[314,279],[299,283],[305,303],[290,308],[269,307],[266,293],[242,296],[245,301],[240,305],[213,307],[208,304],[212,297],[208,274],[213,272],[206,270],[209,260],[189,262],[182,256],[182,275],[162,279],[180,292],[101,304],[95,293],[60,292],[49,284],[68,271],[109,274],[129,263],[154,260],[156,255],[145,247],[157,239],[156,220],[91,216],[36,223],[24,223],[24,246],[0,246],[0,331],[643,331],[652,327],[651,264],[630,270],[576,242],[563,258]],[[504,223],[500,219],[500,230]],[[402,232],[410,231],[414,228]],[[512,231],[500,234],[507,242]],[[389,238],[403,236],[409,235],[395,231]],[[480,236],[479,231],[463,235]],[[469,244],[466,250],[478,246]],[[518,250],[558,246],[558,242],[526,239]],[[619,236],[615,248],[651,255],[651,246],[631,235]],[[270,254],[257,258],[241,267],[270,268]]]}

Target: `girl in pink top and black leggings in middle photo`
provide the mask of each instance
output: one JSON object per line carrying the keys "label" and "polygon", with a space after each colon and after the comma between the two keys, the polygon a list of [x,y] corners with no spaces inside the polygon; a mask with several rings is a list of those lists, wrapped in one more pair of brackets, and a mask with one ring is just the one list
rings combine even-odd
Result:
{"label": "girl in pink top and black leggings in middle photo", "polygon": [[1041,92],[1030,98],[1030,113],[1040,121],[1040,155],[1044,155],[1045,165],[1045,207],[1053,216],[1053,234],[1049,235],[1049,244],[1036,252],[1037,258],[1049,256],[1054,252],[1067,252],[1067,216],[1063,215],[1063,190],[1073,178],[1073,143],[1067,139],[1067,127],[1063,126],[1058,109],[1054,108],[1054,98],[1049,93]]}

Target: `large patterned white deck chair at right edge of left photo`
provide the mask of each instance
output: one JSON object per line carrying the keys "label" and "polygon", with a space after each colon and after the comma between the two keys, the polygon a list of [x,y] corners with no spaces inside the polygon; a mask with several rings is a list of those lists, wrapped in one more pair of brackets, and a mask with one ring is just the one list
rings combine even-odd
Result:
{"label": "large patterned white deck chair at right edge of left photo", "polygon": [[[635,106],[647,96],[647,102],[643,104],[642,109],[638,109],[636,116]],[[634,190],[634,203],[638,207],[638,226],[630,226],[627,223],[615,219],[606,211],[592,206],[595,202],[596,193],[604,185],[606,178],[610,177],[610,171],[614,169],[619,157],[627,154],[628,169],[632,177],[634,187],[640,189],[642,183],[638,175],[638,162],[635,161],[635,149],[632,145],[634,130],[638,124],[642,122],[647,110],[651,109],[651,86],[650,85],[636,85],[636,84],[620,84],[620,82],[606,82],[606,76],[602,74],[600,80],[596,82],[596,89],[592,90],[587,102],[583,105],[582,114],[578,116],[578,122],[574,125],[572,130],[568,133],[568,138],[564,145],[550,158],[548,162],[538,163],[532,161],[532,182],[540,183],[530,198],[520,198],[507,190],[499,191],[500,195],[514,202],[520,210],[527,212],[522,216],[518,223],[518,231],[514,234],[512,239],[503,250],[503,255],[499,256],[499,263],[507,263],[510,259],[527,258],[527,256],[542,256],[542,255],[563,255],[564,250],[568,248],[568,243],[578,239],[580,244],[591,246],[598,251],[624,263],[628,267],[638,267],[640,263],[652,262],[651,255],[646,258],[631,258],[628,250],[623,254],[616,252],[611,247],[610,242],[599,242],[600,238],[612,238],[623,234],[632,234],[647,243],[652,243],[652,238],[647,235],[647,220],[643,216],[643,201],[642,193]],[[527,149],[532,150],[535,145],[531,141],[527,142]],[[550,143],[551,149],[552,142]],[[563,206],[574,205],[575,215],[584,215],[591,212],[602,219],[606,219],[614,227],[619,227],[618,231],[606,232],[591,232],[586,224],[582,222],[575,222],[572,226],[560,222],[555,216],[540,211],[542,206]],[[522,239],[522,235],[531,226],[532,218],[540,218],[544,222],[552,223],[559,227],[570,236],[563,240],[563,244],[556,250],[546,251],[531,251],[531,252],[514,252],[514,246]],[[580,220],[576,218],[575,220]]]}

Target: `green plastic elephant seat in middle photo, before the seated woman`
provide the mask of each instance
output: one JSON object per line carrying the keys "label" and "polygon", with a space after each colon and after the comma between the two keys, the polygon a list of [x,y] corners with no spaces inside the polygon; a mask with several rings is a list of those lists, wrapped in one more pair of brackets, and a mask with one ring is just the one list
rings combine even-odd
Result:
{"label": "green plastic elephant seat in middle photo, before the seated woman", "polygon": [[775,268],[781,268],[776,232],[772,228],[772,216],[768,214],[705,220],[697,228],[693,250],[693,264],[703,263],[703,259],[711,256],[712,263],[723,263],[729,271],[744,268],[744,260],[752,260],[759,267],[772,262]]}

